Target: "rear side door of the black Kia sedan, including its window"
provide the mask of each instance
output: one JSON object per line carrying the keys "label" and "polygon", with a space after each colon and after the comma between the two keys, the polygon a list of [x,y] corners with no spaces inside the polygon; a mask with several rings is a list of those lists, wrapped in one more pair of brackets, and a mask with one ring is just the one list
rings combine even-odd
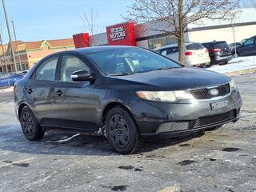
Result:
{"label": "rear side door of the black Kia sedan, including its window", "polygon": [[58,56],[44,59],[25,86],[26,101],[34,111],[41,125],[54,122],[53,100]]}

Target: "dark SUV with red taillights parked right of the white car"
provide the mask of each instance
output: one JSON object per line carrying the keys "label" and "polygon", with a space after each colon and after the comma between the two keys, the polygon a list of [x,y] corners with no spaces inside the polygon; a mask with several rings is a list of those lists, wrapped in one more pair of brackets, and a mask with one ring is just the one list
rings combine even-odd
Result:
{"label": "dark SUV with red taillights parked right of the white car", "polygon": [[227,64],[232,58],[230,46],[225,41],[214,41],[202,43],[209,51],[210,64]]}

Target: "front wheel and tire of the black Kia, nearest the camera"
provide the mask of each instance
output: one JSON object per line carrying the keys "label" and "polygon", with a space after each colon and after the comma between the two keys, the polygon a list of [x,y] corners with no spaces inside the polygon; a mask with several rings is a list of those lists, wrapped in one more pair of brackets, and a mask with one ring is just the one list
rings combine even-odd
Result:
{"label": "front wheel and tire of the black Kia, nearest the camera", "polygon": [[138,150],[140,134],[131,115],[121,106],[106,115],[106,138],[120,154],[133,154]]}

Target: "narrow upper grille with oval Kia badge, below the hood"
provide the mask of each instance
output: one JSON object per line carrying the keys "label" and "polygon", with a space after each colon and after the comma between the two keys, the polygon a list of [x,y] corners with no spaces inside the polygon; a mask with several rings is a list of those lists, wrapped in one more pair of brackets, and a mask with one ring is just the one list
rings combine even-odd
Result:
{"label": "narrow upper grille with oval Kia badge, below the hood", "polygon": [[[210,90],[216,89],[218,90],[217,95],[210,94]],[[226,83],[220,86],[216,86],[214,88],[209,89],[200,89],[200,90],[190,90],[190,94],[194,96],[195,99],[210,99],[210,98],[216,98],[219,96],[225,96],[226,94],[230,93],[230,84]]]}

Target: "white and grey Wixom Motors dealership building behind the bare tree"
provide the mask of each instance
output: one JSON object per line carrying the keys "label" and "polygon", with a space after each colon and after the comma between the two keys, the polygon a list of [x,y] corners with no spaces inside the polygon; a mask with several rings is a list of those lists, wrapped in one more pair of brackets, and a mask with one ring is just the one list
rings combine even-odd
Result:
{"label": "white and grey Wixom Motors dealership building behind the bare tree", "polygon": [[[133,42],[135,42],[136,46],[154,50],[177,42],[174,37],[166,36],[162,32],[150,29],[174,30],[162,22],[150,22],[142,25],[126,22],[106,27],[106,33],[86,35],[84,41],[87,43],[84,44],[87,46],[134,46]],[[216,40],[232,43],[234,41],[241,42],[243,39],[250,38],[255,34],[256,9],[246,8],[238,10],[236,17],[230,20],[202,19],[197,23],[191,23],[185,30],[185,40],[186,42],[210,42]]]}

